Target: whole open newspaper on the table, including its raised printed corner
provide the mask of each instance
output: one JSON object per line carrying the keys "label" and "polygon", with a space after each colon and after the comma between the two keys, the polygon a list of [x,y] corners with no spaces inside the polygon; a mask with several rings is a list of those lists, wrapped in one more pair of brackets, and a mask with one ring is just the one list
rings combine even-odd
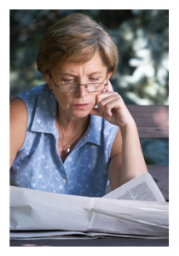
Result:
{"label": "whole open newspaper on the table, including its raised printed corner", "polygon": [[102,198],[10,186],[10,230],[11,239],[73,234],[167,238],[169,204],[148,172]]}

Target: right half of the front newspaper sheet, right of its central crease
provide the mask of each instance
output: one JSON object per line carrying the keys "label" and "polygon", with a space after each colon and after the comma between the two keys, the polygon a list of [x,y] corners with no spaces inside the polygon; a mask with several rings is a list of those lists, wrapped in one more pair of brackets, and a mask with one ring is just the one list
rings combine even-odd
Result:
{"label": "right half of the front newspaper sheet, right of its central crease", "polygon": [[90,223],[93,231],[143,236],[169,234],[167,202],[96,199],[91,211],[95,212]]}

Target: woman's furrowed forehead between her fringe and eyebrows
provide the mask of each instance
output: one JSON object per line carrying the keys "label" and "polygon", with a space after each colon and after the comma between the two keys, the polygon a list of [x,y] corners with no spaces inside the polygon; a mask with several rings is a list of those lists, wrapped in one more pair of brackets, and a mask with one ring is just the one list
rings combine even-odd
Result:
{"label": "woman's furrowed forehead between her fringe and eyebrows", "polygon": [[87,62],[78,63],[78,62],[65,62],[61,68],[58,70],[58,74],[73,74],[79,75],[83,73],[84,75],[90,75],[91,73],[107,73],[107,67],[104,66],[103,62],[101,61],[101,56],[99,54],[95,54],[95,56]]}

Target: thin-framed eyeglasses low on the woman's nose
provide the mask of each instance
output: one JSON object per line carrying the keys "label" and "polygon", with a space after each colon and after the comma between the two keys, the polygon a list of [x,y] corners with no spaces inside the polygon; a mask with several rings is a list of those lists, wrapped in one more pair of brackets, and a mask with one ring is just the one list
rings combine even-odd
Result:
{"label": "thin-framed eyeglasses low on the woman's nose", "polygon": [[[49,77],[50,79],[52,79],[51,74],[49,73]],[[107,78],[105,78],[107,79]],[[104,79],[104,80],[105,80]],[[75,90],[77,90],[78,86],[84,85],[86,90],[90,91],[90,92],[100,92],[102,90],[105,89],[105,87],[107,86],[106,84],[103,84],[104,80],[101,83],[90,83],[90,84],[59,84],[56,85],[54,80],[52,79],[53,83],[55,84],[55,87],[59,88],[59,90],[61,92],[65,92],[65,93],[72,93]]]}

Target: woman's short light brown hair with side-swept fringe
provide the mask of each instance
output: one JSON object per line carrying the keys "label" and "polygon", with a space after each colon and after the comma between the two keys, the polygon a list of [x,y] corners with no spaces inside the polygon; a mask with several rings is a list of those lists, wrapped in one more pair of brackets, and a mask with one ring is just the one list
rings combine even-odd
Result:
{"label": "woman's short light brown hair with side-swept fringe", "polygon": [[96,52],[101,55],[107,73],[116,73],[118,49],[104,26],[88,15],[73,14],[49,28],[38,47],[38,71],[49,73],[62,63],[90,61]]}

